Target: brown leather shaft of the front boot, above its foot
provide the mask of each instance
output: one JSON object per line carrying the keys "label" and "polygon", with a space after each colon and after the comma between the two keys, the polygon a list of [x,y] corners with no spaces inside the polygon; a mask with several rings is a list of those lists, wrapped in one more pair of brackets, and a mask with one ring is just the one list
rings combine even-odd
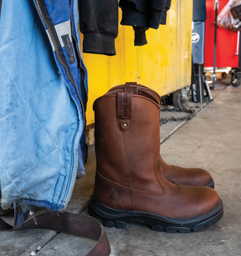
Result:
{"label": "brown leather shaft of the front boot, above its foot", "polygon": [[[150,98],[142,96],[143,90],[112,93],[98,98],[93,106],[97,171],[124,187],[160,192],[160,184],[153,183],[152,177],[160,157],[160,103],[146,92]],[[149,181],[143,181],[145,173]]]}

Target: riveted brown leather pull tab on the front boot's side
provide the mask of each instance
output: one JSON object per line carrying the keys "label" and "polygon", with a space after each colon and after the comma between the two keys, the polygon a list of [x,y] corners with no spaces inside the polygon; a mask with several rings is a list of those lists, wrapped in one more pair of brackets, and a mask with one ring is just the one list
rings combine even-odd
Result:
{"label": "riveted brown leather pull tab on the front boot's side", "polygon": [[117,124],[122,132],[131,127],[132,91],[117,91]]}

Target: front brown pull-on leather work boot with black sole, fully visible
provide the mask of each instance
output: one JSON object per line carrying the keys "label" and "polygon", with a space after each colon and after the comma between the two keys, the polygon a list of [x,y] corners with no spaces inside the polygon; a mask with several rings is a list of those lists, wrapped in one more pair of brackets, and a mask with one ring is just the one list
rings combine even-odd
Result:
{"label": "front brown pull-on leather work boot with black sole, fully visible", "polygon": [[95,100],[95,186],[89,214],[105,226],[127,221],[153,230],[188,233],[223,216],[218,193],[167,181],[161,168],[160,101],[138,87],[113,90]]}

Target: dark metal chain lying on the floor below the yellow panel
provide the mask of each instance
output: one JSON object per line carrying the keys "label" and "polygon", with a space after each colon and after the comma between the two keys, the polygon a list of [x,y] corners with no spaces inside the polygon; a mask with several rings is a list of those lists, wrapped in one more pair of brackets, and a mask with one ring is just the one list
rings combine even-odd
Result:
{"label": "dark metal chain lying on the floor below the yellow panel", "polygon": [[170,117],[166,117],[166,118],[160,118],[160,126],[162,124],[166,124],[166,123],[170,123],[173,121],[186,121],[186,120],[190,120],[193,117],[196,116],[196,111],[194,109],[190,109],[190,108],[177,108],[177,107],[173,107],[173,106],[168,106],[168,108],[161,108],[161,111],[168,111],[168,112],[185,112],[185,113],[190,113],[190,115],[188,116],[184,116],[184,117],[174,117],[174,116],[170,116]]}

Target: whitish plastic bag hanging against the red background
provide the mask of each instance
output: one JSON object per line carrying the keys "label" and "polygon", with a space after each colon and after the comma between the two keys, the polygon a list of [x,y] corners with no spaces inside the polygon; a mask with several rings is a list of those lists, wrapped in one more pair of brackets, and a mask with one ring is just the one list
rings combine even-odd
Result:
{"label": "whitish plastic bag hanging against the red background", "polygon": [[226,6],[220,11],[218,15],[218,25],[225,29],[235,30],[234,25],[239,23],[239,19],[234,19],[230,9],[241,3],[241,0],[229,0]]}

